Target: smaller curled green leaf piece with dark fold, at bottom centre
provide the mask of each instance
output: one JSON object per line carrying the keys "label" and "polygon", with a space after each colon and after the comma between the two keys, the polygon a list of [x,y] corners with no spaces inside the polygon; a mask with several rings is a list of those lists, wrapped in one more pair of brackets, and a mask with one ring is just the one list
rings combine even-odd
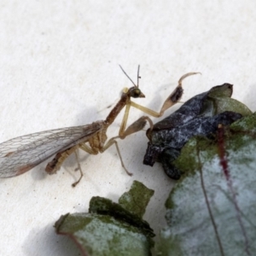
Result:
{"label": "smaller curled green leaf piece with dark fold, at bottom centre", "polygon": [[55,223],[56,232],[73,238],[84,255],[151,255],[154,233],[141,217],[148,202],[135,203],[141,193],[142,200],[149,201],[154,191],[135,182],[120,200],[132,212],[106,198],[93,197],[88,213],[61,216]]}

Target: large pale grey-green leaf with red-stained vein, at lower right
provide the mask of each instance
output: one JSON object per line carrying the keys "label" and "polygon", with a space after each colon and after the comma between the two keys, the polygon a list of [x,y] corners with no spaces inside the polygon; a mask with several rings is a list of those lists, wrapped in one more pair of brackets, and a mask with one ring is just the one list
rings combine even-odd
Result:
{"label": "large pale grey-green leaf with red-stained vein, at lower right", "polygon": [[220,128],[215,142],[194,137],[184,146],[160,255],[256,255],[255,127],[253,113],[225,136]]}

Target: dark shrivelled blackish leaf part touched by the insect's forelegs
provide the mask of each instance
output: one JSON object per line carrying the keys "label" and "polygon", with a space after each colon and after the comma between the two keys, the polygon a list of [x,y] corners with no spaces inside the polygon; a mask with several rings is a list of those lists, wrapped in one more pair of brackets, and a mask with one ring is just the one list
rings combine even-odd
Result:
{"label": "dark shrivelled blackish leaf part touched by the insect's forelegs", "polygon": [[154,162],[159,161],[168,177],[178,179],[181,173],[173,165],[173,161],[189,138],[212,137],[219,124],[230,125],[241,119],[241,113],[218,109],[219,97],[230,98],[232,88],[232,84],[214,86],[211,90],[192,97],[166,119],[150,125],[143,164],[154,166]]}

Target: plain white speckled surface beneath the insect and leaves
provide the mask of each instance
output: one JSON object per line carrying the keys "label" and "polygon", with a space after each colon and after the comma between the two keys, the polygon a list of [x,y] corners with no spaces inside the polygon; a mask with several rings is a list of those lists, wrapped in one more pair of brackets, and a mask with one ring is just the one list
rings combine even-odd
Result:
{"label": "plain white speckled surface beneath the insect and leaves", "polygon": [[[160,110],[184,73],[183,101],[213,85],[234,84],[234,97],[256,109],[256,2],[234,1],[29,1],[0,3],[0,142],[37,131],[105,119],[137,79],[145,99]],[[112,105],[113,106],[113,105]],[[172,113],[172,108],[167,113]],[[130,123],[143,115],[131,109]],[[121,115],[120,115],[121,117]],[[120,118],[109,129],[116,136]],[[56,175],[47,162],[20,177],[0,180],[0,255],[77,255],[53,224],[67,212],[86,212],[90,197],[119,195],[137,179],[155,190],[145,218],[156,233],[165,224],[172,189],[159,164],[143,166],[145,132],[104,154],[80,153],[84,178],[73,183],[75,158]]]}

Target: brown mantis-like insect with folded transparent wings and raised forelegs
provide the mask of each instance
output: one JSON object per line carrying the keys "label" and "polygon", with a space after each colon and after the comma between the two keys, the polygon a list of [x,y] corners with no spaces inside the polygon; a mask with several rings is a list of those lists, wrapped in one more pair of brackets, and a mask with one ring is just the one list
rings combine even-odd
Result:
{"label": "brown mantis-like insect with folded transparent wings and raised forelegs", "polygon": [[[125,73],[124,69],[120,67]],[[128,135],[143,130],[146,122],[151,122],[148,117],[143,116],[139,121],[130,125],[126,130],[127,119],[130,108],[137,108],[154,117],[161,116],[167,108],[172,107],[182,96],[183,90],[181,82],[172,94],[164,102],[160,113],[154,112],[149,108],[145,108],[131,101],[131,98],[145,97],[143,92],[138,88],[139,84],[139,68],[137,69],[137,84],[134,84],[130,77],[125,73],[128,79],[131,80],[132,86],[130,89],[125,89],[119,99],[119,102],[113,107],[108,117],[105,120],[98,120],[90,125],[81,125],[76,127],[67,127],[55,129],[51,131],[41,131],[32,133],[26,136],[16,137],[7,142],[0,144],[0,177],[15,177],[24,172],[31,170],[34,166],[42,163],[55,155],[54,159],[46,166],[45,171],[49,174],[57,172],[61,164],[70,154],[76,153],[76,150],[81,148],[89,154],[103,153],[106,149],[115,144],[121,165],[125,169],[125,165],[121,158],[117,138],[124,139]],[[194,73],[189,73],[189,76]],[[185,78],[184,76],[183,78]],[[119,136],[113,137],[107,141],[108,126],[111,125],[120,111],[125,108],[124,117],[119,128]],[[79,166],[79,180],[73,183],[76,186],[83,172]]]}

